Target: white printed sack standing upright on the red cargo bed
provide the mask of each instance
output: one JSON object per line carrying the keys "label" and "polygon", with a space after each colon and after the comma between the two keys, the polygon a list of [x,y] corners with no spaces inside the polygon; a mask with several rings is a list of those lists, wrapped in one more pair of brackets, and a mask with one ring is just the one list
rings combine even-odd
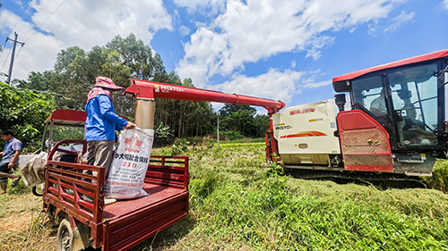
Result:
{"label": "white printed sack standing upright on the red cargo bed", "polygon": [[150,162],[154,130],[122,130],[106,180],[106,197],[130,199],[144,197],[144,177]]}

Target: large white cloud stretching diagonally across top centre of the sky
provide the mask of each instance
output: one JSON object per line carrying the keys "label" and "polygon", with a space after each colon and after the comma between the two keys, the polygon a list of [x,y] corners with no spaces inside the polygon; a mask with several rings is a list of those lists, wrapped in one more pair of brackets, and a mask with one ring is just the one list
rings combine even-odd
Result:
{"label": "large white cloud stretching diagonally across top centre of the sky", "polygon": [[[247,0],[245,4],[228,0],[224,12],[198,28],[185,43],[185,57],[177,63],[177,73],[203,87],[215,74],[244,71],[245,63],[275,54],[306,51],[306,56],[316,59],[325,46],[332,45],[334,38],[325,32],[375,23],[405,1]],[[188,8],[211,2],[175,1]]]}

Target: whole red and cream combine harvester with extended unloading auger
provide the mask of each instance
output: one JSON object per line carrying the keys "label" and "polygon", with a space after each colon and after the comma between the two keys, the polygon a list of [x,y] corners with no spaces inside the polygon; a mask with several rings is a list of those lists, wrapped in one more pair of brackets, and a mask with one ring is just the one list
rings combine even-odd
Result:
{"label": "whole red and cream combine harvester with extended unloading auger", "polygon": [[[271,118],[266,160],[301,178],[417,181],[446,159],[444,69],[448,50],[355,71],[333,79],[330,101],[285,107],[281,101],[133,79],[135,122],[153,127],[154,98],[263,106]],[[346,94],[347,93],[347,94]],[[350,110],[344,111],[349,96]]]}

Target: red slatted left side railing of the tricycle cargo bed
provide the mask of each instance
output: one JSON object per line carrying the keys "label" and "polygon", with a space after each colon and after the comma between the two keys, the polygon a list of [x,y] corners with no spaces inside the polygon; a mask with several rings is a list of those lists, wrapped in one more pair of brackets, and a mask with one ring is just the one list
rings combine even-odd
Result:
{"label": "red slatted left side railing of the tricycle cargo bed", "polygon": [[56,152],[78,154],[63,149],[61,146],[65,144],[82,144],[82,154],[87,151],[87,142],[82,139],[56,143],[48,155],[44,201],[80,222],[100,223],[104,208],[104,167],[53,160]]}

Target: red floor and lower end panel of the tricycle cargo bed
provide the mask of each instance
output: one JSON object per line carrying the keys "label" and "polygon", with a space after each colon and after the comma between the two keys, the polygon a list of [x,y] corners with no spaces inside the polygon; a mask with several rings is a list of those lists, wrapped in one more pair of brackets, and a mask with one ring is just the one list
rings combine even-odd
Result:
{"label": "red floor and lower end panel of the tricycle cargo bed", "polygon": [[103,250],[134,247],[187,214],[188,192],[185,190],[146,183],[145,187],[148,197],[106,205]]}

